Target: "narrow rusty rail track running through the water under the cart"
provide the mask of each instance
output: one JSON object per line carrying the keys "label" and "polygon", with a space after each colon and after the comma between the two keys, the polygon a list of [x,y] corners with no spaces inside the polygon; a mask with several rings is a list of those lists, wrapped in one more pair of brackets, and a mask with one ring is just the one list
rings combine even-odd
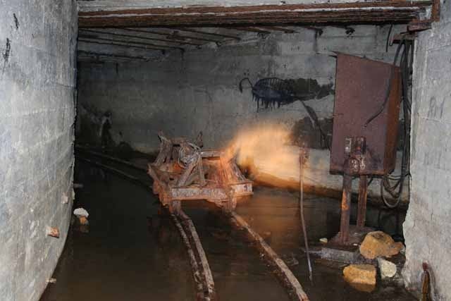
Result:
{"label": "narrow rusty rail track running through the water under the cart", "polygon": [[[80,161],[85,161],[88,164],[97,166],[104,171],[114,173],[117,176],[121,176],[126,180],[130,180],[137,185],[142,185],[152,192],[152,185],[147,183],[141,177],[135,176],[133,174],[123,171],[118,168],[117,164],[121,166],[127,166],[128,168],[133,168],[137,171],[147,173],[147,168],[144,166],[139,166],[133,164],[130,161],[125,161],[123,159],[116,158],[114,156],[109,156],[100,152],[94,152],[91,149],[85,147],[75,146],[75,156]],[[95,159],[97,158],[97,159]],[[98,161],[101,159],[101,161]],[[105,164],[104,161],[113,162],[116,166],[112,164]],[[202,242],[199,239],[194,223],[183,210],[180,210],[178,214],[169,213],[171,219],[180,233],[180,237],[185,244],[187,249],[187,255],[190,260],[190,265],[192,268],[192,276],[194,279],[194,284],[197,293],[197,300],[218,300],[221,299],[220,296],[216,295],[214,278],[211,274],[211,269],[209,262],[206,259],[206,254],[204,248],[202,247]],[[272,250],[272,248],[265,242],[261,236],[254,231],[251,226],[243,219],[239,214],[232,212],[224,212],[230,221],[230,224],[237,229],[245,230],[247,237],[255,242],[253,245],[257,247],[261,254],[264,254],[264,259],[266,263],[272,266],[276,270],[276,276],[278,276],[283,286],[288,290],[288,295],[292,300],[302,300],[308,301],[309,297],[302,289],[302,285],[299,283],[297,278],[292,274],[288,266],[283,262],[282,259]]]}

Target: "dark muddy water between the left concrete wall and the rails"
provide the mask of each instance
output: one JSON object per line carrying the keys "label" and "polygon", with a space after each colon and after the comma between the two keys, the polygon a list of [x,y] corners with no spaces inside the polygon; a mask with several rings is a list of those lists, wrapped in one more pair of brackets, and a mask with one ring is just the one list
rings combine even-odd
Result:
{"label": "dark muddy water between the left concrete wall and the rails", "polygon": [[[70,229],[42,301],[193,300],[185,247],[148,190],[83,165],[77,207],[89,233]],[[155,218],[157,216],[157,218]]]}

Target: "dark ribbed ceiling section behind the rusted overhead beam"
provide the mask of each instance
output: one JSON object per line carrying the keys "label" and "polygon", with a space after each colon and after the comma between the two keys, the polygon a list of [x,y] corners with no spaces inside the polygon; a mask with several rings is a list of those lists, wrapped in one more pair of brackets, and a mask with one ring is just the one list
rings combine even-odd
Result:
{"label": "dark ribbed ceiling section behind the rusted overhead beam", "polygon": [[[321,30],[320,27],[304,27]],[[201,47],[221,47],[273,32],[295,33],[302,27],[109,27],[80,28],[79,60],[128,61],[158,59],[168,51],[183,53]]]}

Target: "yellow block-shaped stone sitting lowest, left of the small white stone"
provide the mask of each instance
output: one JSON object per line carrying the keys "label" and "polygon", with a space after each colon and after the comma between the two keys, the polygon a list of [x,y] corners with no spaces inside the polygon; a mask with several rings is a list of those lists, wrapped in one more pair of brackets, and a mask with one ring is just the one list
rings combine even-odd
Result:
{"label": "yellow block-shaped stone sitting lowest, left of the small white stone", "polygon": [[357,290],[371,292],[376,288],[376,268],[371,264],[350,264],[343,269],[343,277]]}

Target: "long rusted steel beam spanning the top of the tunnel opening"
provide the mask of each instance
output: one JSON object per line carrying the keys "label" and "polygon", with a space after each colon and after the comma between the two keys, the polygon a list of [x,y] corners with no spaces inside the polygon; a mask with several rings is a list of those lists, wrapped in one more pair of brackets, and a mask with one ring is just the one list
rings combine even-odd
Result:
{"label": "long rusted steel beam spanning the top of the tunnel opening", "polygon": [[198,6],[122,11],[82,11],[78,26],[161,27],[274,25],[287,23],[409,22],[432,1],[361,1],[342,4]]}

